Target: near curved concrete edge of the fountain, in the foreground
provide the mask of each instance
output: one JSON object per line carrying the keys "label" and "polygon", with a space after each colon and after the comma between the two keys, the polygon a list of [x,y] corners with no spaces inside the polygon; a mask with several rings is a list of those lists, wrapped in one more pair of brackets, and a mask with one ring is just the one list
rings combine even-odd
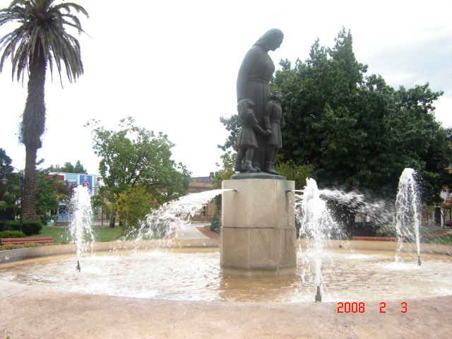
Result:
{"label": "near curved concrete edge of the fountain, in the foreground", "polygon": [[[357,302],[364,302],[357,300]],[[381,302],[385,302],[381,300]],[[408,311],[401,313],[406,302]],[[338,303],[177,302],[61,292],[0,280],[0,338],[451,338],[452,297]]]}

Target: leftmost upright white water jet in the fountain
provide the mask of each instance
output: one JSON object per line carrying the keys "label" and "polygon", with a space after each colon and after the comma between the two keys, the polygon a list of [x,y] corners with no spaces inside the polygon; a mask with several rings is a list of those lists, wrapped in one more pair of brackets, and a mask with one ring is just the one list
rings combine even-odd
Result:
{"label": "leftmost upright white water jet in the fountain", "polygon": [[88,244],[93,246],[94,236],[91,228],[93,220],[93,210],[91,209],[90,192],[87,187],[78,186],[73,189],[71,198],[72,218],[69,230],[71,231],[72,242],[76,243],[77,250],[77,270],[81,271],[81,256],[87,249]]}

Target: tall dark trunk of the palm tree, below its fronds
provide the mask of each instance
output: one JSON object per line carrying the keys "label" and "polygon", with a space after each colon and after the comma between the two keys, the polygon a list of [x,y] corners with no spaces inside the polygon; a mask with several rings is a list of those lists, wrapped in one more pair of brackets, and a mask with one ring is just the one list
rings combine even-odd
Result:
{"label": "tall dark trunk of the palm tree, below its fronds", "polygon": [[47,60],[40,44],[30,60],[28,96],[23,111],[20,137],[25,145],[25,184],[23,191],[23,218],[39,220],[35,210],[35,175],[38,148],[42,147],[41,136],[45,126],[44,85]]}

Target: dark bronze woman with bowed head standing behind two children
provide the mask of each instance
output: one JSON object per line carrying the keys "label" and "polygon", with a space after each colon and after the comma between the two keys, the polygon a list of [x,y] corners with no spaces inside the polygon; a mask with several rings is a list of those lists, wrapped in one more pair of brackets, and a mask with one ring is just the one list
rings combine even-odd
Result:
{"label": "dark bronze woman with bowed head standing behind two children", "polygon": [[[275,72],[275,64],[268,51],[278,49],[283,42],[284,34],[278,28],[273,28],[262,35],[246,53],[237,76],[237,102],[249,99],[254,102],[254,113],[259,126],[265,126],[263,121],[266,104],[271,92],[268,83]],[[266,139],[256,135],[258,148],[254,152],[253,166],[261,172],[265,162]]]}

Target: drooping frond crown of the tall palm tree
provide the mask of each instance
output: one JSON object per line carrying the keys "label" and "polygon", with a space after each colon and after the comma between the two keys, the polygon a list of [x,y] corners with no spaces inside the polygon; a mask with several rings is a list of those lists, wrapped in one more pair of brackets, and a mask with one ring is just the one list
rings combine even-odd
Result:
{"label": "drooping frond crown of the tall palm tree", "polygon": [[19,23],[18,28],[0,39],[4,53],[0,59],[0,70],[4,61],[11,57],[12,74],[17,79],[28,72],[28,64],[36,51],[43,52],[49,61],[50,72],[57,64],[61,77],[61,61],[66,68],[69,81],[83,74],[80,44],[67,34],[66,27],[76,28],[80,35],[83,30],[77,16],[71,13],[83,13],[88,18],[85,8],[74,3],[54,4],[55,0],[15,0],[9,7],[0,10],[0,26],[5,23]]}

